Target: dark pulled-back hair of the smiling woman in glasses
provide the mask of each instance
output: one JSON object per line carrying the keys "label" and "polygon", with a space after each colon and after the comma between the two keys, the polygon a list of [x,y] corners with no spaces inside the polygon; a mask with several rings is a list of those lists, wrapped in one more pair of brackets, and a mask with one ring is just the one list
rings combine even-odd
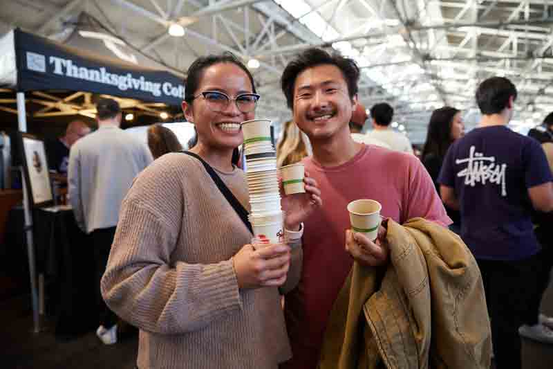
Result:
{"label": "dark pulled-back hair of the smiling woman in glasses", "polygon": [[209,68],[209,66],[212,66],[214,64],[219,63],[231,63],[238,68],[245,71],[247,74],[247,77],[250,78],[250,82],[252,82],[252,89],[253,92],[255,91],[255,84],[254,84],[254,77],[252,76],[252,73],[250,73],[250,70],[246,68],[246,66],[241,62],[238,57],[236,57],[233,53],[223,53],[220,55],[207,55],[198,57],[198,59],[194,60],[194,62],[191,64],[191,66],[188,69],[187,78],[185,82],[185,101],[189,104],[194,100],[194,93],[196,93],[196,90],[198,89],[198,85],[200,84],[200,80],[202,79],[203,72],[205,69]]}

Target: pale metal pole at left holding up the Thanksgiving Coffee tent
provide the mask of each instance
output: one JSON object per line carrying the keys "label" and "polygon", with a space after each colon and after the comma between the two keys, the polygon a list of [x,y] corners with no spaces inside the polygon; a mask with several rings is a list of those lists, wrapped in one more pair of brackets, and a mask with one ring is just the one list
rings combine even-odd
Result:
{"label": "pale metal pole at left holding up the Thanksgiving Coffee tent", "polygon": [[[25,93],[17,93],[17,123],[19,131],[27,132],[27,113],[25,109]],[[30,296],[32,302],[33,332],[40,331],[39,302],[37,294],[37,271],[35,270],[35,245],[32,243],[32,218],[30,215],[29,194],[25,179],[24,168],[21,166],[21,183],[23,183],[23,210],[25,215],[25,233],[27,236],[27,255],[29,260]]]}

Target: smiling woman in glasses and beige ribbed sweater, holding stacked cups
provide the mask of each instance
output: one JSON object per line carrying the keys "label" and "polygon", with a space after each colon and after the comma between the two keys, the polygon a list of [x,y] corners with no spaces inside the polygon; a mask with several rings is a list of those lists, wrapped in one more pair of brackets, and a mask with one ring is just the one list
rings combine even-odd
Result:
{"label": "smiling woman in glasses and beige ribbed sweater, holding stacked cups", "polygon": [[[250,208],[245,174],[231,158],[259,95],[232,55],[196,60],[186,91],[182,110],[196,127],[196,157],[166,154],[135,180],[102,294],[140,328],[139,368],[277,369],[291,355],[279,293],[297,284],[301,246],[250,244],[252,233],[198,160]],[[321,203],[316,183],[306,183],[315,186],[282,203],[292,229]]]}

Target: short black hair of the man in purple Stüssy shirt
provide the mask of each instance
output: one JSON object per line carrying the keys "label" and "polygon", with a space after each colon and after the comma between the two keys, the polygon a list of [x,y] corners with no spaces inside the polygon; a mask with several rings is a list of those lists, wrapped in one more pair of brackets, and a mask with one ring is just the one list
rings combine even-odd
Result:
{"label": "short black hair of the man in purple St\u00fcssy shirt", "polygon": [[476,103],[482,114],[499,114],[509,104],[511,96],[516,100],[516,94],[513,82],[505,77],[491,77],[476,89]]}

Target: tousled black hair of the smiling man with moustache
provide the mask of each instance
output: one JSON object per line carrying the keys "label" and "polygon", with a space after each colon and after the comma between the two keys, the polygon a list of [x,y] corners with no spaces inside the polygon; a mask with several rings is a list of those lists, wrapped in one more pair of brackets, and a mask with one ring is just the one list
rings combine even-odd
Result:
{"label": "tousled black hair of the smiling man with moustache", "polygon": [[353,59],[343,57],[337,53],[329,54],[321,48],[309,48],[299,54],[288,63],[281,77],[281,89],[286,97],[286,104],[290,109],[294,108],[294,84],[299,73],[314,66],[330,64],[337,66],[344,75],[348,84],[350,98],[357,94],[357,82],[359,82],[359,66]]}

